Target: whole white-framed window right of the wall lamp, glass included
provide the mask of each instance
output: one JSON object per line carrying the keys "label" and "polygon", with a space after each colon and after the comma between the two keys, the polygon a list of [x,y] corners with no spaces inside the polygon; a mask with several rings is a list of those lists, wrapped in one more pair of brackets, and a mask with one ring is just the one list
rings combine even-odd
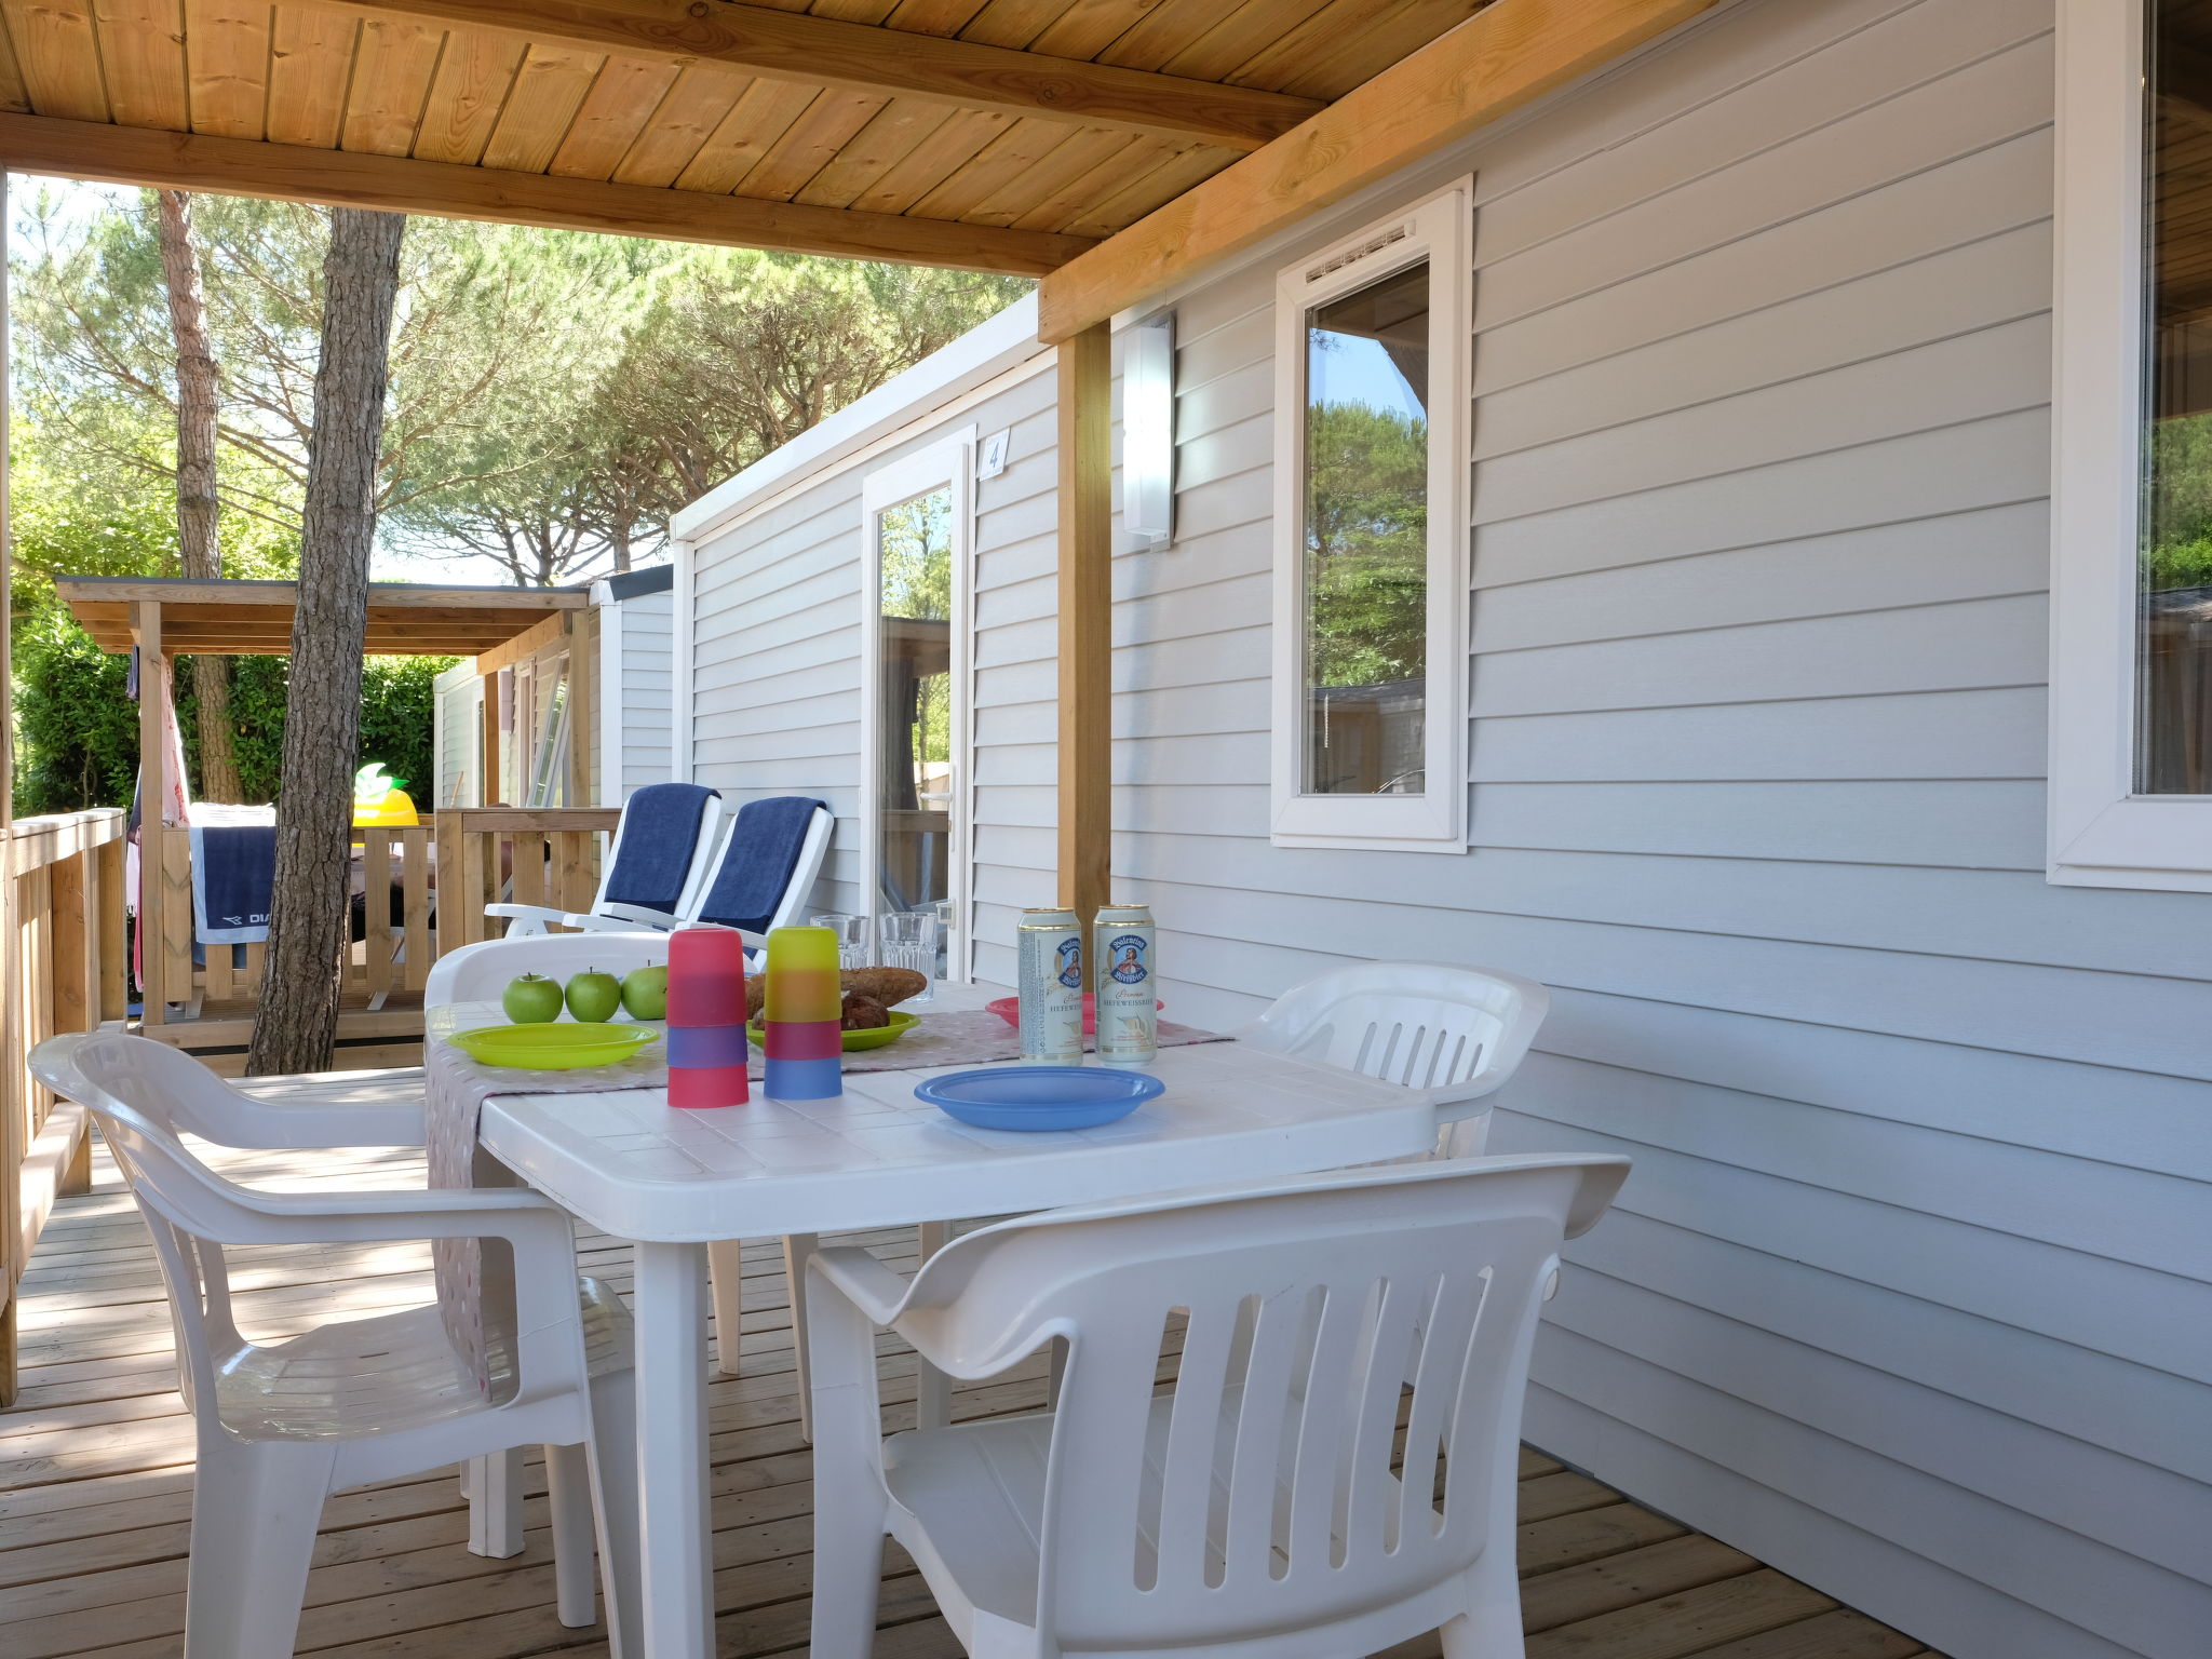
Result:
{"label": "whole white-framed window right of the wall lamp, glass included", "polygon": [[1270,834],[1467,849],[1469,184],[1276,279]]}

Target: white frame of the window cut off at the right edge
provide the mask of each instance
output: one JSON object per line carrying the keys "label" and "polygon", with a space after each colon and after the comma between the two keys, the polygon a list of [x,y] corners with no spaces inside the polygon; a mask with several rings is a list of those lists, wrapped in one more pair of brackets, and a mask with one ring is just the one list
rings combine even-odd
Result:
{"label": "white frame of the window cut off at the right edge", "polygon": [[2046,876],[2212,891],[2212,796],[2135,792],[2143,0],[2059,0]]}

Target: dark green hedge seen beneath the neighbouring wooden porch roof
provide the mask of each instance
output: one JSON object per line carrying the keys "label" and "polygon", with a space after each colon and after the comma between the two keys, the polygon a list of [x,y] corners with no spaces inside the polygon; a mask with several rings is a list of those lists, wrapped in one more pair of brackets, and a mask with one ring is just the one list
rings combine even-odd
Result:
{"label": "dark green hedge seen beneath the neighbouring wooden porch roof", "polygon": [[[190,659],[177,666],[177,721],[199,796],[199,701]],[[369,657],[361,675],[361,759],[434,794],[431,681],[453,657]],[[288,657],[230,659],[230,723],[248,801],[276,799]],[[126,807],[137,779],[137,703],[128,659],[111,657],[60,608],[24,617],[15,635],[15,810]]]}

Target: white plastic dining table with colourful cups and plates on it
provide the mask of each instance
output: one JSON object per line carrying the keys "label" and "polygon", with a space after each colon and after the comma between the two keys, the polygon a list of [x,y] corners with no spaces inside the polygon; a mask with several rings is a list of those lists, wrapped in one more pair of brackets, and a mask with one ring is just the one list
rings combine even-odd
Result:
{"label": "white plastic dining table with colourful cups and plates on it", "polygon": [[[973,1009],[984,987],[940,987]],[[927,1013],[929,1009],[922,1009]],[[498,1020],[431,1009],[427,1037]],[[637,1455],[648,1659],[714,1652],[706,1245],[1044,1210],[1422,1152],[1447,1115],[1418,1088],[1237,1042],[1161,1048],[1166,1093],[1119,1124],[978,1130],[914,1099],[938,1071],[847,1073],[832,1102],[672,1110],[646,1091],[493,1095],[478,1144],[573,1214],[637,1245]],[[792,1285],[803,1294],[803,1285]]]}

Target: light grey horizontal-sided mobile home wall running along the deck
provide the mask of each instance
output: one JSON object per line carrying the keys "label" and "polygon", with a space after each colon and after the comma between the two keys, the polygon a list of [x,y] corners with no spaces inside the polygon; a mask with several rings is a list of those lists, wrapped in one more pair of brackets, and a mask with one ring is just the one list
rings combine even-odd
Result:
{"label": "light grey horizontal-sided mobile home wall running along the deck", "polygon": [[[2183,1659],[2212,896],[2051,843],[2057,11],[1743,0],[1170,294],[1113,867],[1197,1024],[1354,958],[1553,987],[1491,1150],[1637,1170],[1544,1329],[1535,1444],[1949,1655]],[[1464,790],[1449,834],[1376,834],[1281,799],[1285,294],[1431,204],[1471,533],[1429,564],[1429,776]],[[947,491],[945,896],[989,980],[1053,902],[1055,429],[1018,310],[677,524],[677,772],[830,799],[821,900],[858,909],[880,513]]]}

